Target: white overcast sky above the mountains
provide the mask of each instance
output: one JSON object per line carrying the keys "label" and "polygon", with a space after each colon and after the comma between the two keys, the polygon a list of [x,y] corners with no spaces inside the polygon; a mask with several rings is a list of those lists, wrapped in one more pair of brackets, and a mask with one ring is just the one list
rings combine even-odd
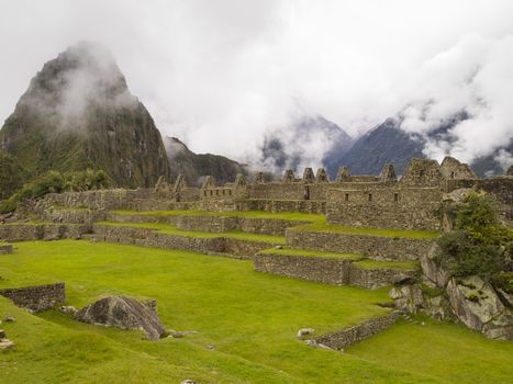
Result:
{"label": "white overcast sky above the mountains", "polygon": [[[81,39],[114,54],[158,128],[243,159],[322,114],[356,136],[406,106],[428,132],[466,109],[462,160],[513,136],[510,0],[0,0],[0,121],[43,64]],[[426,103],[428,102],[428,108]]]}

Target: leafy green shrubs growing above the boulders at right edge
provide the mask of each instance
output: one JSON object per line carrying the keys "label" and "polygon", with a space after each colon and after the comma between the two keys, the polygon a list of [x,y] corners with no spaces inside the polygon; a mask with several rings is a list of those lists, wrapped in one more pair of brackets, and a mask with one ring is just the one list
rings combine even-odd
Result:
{"label": "leafy green shrubs growing above the boulders at right edge", "polygon": [[[489,194],[471,192],[454,207],[456,230],[438,241],[438,261],[451,275],[477,274],[512,290],[513,230],[499,221],[498,206]],[[511,271],[510,271],[511,272]]]}

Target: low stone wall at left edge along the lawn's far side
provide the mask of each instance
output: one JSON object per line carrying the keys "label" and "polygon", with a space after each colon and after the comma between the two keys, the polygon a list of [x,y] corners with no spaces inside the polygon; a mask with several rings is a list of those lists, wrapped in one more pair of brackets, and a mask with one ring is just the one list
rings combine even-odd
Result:
{"label": "low stone wall at left edge along the lawn's far side", "polygon": [[91,231],[90,225],[74,224],[3,224],[0,225],[0,240],[31,241],[80,238]]}

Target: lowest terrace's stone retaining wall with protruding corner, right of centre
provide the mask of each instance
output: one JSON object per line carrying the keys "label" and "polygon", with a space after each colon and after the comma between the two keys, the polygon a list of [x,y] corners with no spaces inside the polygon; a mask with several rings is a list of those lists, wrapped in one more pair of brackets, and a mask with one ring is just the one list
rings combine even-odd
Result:
{"label": "lowest terrace's stone retaining wall with protruding corner, right of centre", "polygon": [[376,290],[411,279],[415,271],[375,268],[364,269],[354,263],[355,259],[291,256],[279,253],[257,253],[254,257],[255,270],[315,281],[333,285],[357,285]]}

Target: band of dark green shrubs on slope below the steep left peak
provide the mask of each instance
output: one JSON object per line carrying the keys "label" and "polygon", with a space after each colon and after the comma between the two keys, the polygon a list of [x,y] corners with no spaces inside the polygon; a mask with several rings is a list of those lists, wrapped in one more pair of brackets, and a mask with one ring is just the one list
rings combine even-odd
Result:
{"label": "band of dark green shrubs on slope below the steep left peak", "polygon": [[88,169],[77,172],[48,171],[23,184],[23,188],[9,199],[0,202],[0,213],[14,211],[20,203],[35,200],[47,193],[75,192],[103,189],[109,185],[105,172]]}

